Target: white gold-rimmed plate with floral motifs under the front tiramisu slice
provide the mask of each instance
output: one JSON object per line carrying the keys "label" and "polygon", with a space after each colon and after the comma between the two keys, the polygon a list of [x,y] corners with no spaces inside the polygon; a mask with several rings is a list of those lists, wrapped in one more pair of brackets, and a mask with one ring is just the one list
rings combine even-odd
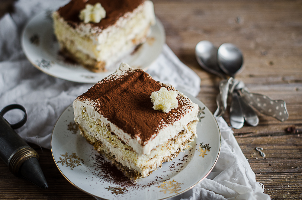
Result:
{"label": "white gold-rimmed plate with floral motifs under the front tiramisu slice", "polygon": [[[200,122],[192,148],[180,153],[174,160],[162,164],[150,176],[137,179],[133,186],[108,180],[98,161],[94,147],[79,134],[70,105],[53,128],[51,151],[53,159],[72,185],[103,199],[165,199],[179,195],[203,180],[213,169],[220,153],[220,130],[209,109],[197,98],[184,92],[200,107]],[[110,162],[110,161],[108,161]],[[103,171],[102,171],[103,170]]]}

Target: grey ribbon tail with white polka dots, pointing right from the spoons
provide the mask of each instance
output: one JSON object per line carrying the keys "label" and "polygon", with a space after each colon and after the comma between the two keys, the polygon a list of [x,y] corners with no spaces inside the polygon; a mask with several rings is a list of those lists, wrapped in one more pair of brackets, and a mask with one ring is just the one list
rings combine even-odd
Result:
{"label": "grey ribbon tail with white polka dots, pointing right from the spoons", "polygon": [[286,104],[283,100],[272,100],[266,95],[250,93],[245,89],[241,89],[239,92],[243,100],[259,112],[282,122],[288,119]]}

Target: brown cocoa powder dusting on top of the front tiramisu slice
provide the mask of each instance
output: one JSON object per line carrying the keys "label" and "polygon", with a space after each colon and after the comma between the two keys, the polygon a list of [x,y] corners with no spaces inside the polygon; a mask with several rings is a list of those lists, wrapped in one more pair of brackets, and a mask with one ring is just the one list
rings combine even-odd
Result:
{"label": "brown cocoa powder dusting on top of the front tiramisu slice", "polygon": [[101,80],[78,99],[91,102],[108,121],[132,138],[139,137],[140,144],[145,145],[160,129],[192,108],[188,98],[178,95],[177,108],[169,113],[154,110],[150,95],[162,86],[143,70],[128,70],[122,76],[111,75]]}

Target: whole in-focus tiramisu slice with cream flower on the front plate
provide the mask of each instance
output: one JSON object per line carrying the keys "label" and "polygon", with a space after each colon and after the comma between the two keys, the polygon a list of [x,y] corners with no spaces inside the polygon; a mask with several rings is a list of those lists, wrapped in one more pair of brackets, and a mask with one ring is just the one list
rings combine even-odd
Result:
{"label": "whole in-focus tiramisu slice with cream flower on the front plate", "polygon": [[197,137],[198,105],[124,63],[76,98],[73,108],[81,134],[135,179],[173,160]]}

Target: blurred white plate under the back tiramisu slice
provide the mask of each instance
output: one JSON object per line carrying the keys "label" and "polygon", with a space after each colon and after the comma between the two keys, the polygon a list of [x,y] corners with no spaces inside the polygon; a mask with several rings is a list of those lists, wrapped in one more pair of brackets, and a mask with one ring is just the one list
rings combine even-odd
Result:
{"label": "blurred white plate under the back tiramisu slice", "polygon": [[59,43],[53,34],[51,11],[44,11],[32,18],[24,28],[21,46],[27,59],[37,69],[56,78],[81,83],[97,83],[112,74],[121,62],[133,68],[146,70],[162,52],[165,43],[165,30],[156,18],[151,34],[139,49],[118,61],[105,73],[93,73],[79,64],[59,55]]}

